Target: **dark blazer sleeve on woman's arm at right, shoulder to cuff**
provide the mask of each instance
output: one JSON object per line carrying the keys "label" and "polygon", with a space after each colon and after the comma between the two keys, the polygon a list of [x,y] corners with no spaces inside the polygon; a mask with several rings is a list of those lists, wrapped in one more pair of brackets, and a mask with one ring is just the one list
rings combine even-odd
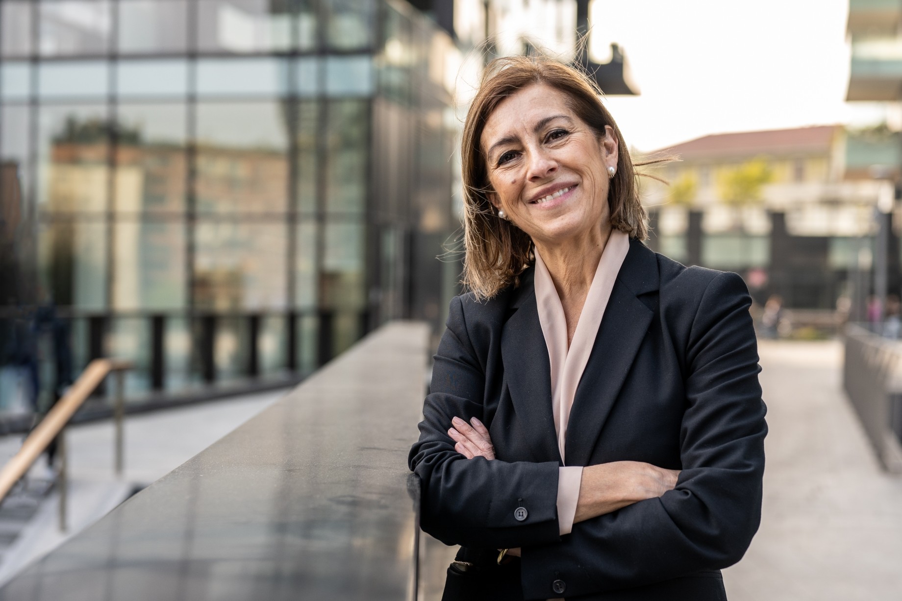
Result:
{"label": "dark blazer sleeve on woman's arm at right, shoulder to cuff", "polygon": [[561,542],[524,547],[527,599],[648,585],[740,560],[758,530],[765,405],[751,300],[721,273],[704,291],[686,345],[682,472],[673,490],[574,524]]}

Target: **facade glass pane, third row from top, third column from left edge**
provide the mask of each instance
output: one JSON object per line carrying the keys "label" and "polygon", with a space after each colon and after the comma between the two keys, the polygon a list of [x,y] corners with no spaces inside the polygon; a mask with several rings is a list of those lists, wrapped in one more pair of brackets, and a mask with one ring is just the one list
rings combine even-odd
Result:
{"label": "facade glass pane, third row from top, third column from left edge", "polygon": [[119,105],[116,126],[115,210],[183,211],[188,178],[185,105]]}

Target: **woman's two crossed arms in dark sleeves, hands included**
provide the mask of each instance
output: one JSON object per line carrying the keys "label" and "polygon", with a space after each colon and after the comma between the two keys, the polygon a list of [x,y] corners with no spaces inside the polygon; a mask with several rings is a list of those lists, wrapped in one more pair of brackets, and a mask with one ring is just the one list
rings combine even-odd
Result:
{"label": "woman's two crossed arms in dark sleeves, hands included", "polygon": [[[735,274],[716,276],[701,295],[686,341],[678,475],[633,462],[585,468],[577,523],[561,537],[557,461],[491,460],[484,454],[491,439],[474,441],[461,432],[477,432],[475,422],[452,423],[456,416],[483,416],[484,388],[456,300],[424,405],[422,437],[410,453],[410,467],[423,481],[424,530],[449,544],[519,546],[526,598],[550,596],[554,575],[579,596],[735,563],[758,529],[767,433],[749,304]],[[512,515],[520,500],[529,508],[522,523]]]}

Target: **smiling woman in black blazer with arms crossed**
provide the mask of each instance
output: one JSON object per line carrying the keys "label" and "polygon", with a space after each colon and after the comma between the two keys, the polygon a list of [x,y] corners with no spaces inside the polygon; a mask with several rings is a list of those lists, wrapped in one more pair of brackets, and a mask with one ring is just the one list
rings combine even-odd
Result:
{"label": "smiling woman in black blazer with arms crossed", "polygon": [[446,598],[726,598],[767,433],[741,278],[642,244],[621,133],[552,59],[486,70],[463,163],[471,292],[410,451],[423,530],[463,545]]}

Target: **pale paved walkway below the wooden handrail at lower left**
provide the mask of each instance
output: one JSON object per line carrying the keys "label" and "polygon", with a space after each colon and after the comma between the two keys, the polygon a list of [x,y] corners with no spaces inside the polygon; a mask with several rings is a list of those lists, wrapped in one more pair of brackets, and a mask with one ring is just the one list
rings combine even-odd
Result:
{"label": "pale paved walkway below the wooden handrail at lower left", "polygon": [[[57,547],[121,503],[135,489],[146,487],[232,432],[281,398],[276,390],[147,414],[126,415],[124,474],[116,478],[112,420],[67,428],[69,450],[69,530],[59,530],[59,495],[48,496],[18,539],[0,559],[0,584],[25,565]],[[0,437],[0,462],[9,460],[23,436]],[[44,459],[34,471],[46,471]]]}

